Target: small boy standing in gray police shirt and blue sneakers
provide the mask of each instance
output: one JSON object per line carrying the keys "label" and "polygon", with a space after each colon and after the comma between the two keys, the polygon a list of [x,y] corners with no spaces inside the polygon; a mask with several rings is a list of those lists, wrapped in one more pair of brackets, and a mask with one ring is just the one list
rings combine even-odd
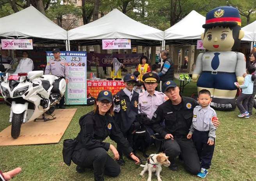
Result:
{"label": "small boy standing in gray police shirt and blue sneakers", "polygon": [[197,100],[200,105],[197,105],[193,110],[192,124],[189,128],[187,139],[192,137],[201,161],[201,171],[197,176],[204,178],[208,174],[212,161],[216,138],[216,128],[212,123],[212,119],[213,117],[217,118],[217,114],[210,107],[212,101],[210,91],[206,89],[199,91]]}

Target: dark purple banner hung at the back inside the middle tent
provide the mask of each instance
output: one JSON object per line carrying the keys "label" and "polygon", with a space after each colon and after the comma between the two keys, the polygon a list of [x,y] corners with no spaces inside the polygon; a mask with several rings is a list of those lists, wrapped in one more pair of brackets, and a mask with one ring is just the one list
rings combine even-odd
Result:
{"label": "dark purple banner hung at the back inside the middle tent", "polygon": [[87,53],[87,65],[92,67],[111,67],[113,58],[118,58],[120,63],[126,67],[137,66],[140,63],[140,57],[143,53],[130,54],[107,54],[107,53]]}

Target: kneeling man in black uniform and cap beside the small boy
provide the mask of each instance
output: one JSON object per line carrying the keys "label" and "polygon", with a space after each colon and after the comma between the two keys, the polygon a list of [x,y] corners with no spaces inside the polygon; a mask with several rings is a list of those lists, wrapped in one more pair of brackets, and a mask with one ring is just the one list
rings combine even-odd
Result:
{"label": "kneeling man in black uniform and cap beside the small boy", "polygon": [[[169,156],[171,162],[169,168],[174,171],[178,170],[174,159],[181,155],[185,169],[192,174],[198,174],[200,171],[199,157],[194,143],[186,137],[197,102],[193,98],[180,96],[180,89],[174,81],[166,81],[163,84],[163,91],[169,100],[156,109],[152,118],[152,128],[167,139],[164,141],[163,150]],[[161,125],[162,121],[165,121],[164,127]],[[213,124],[218,127],[219,121]]]}

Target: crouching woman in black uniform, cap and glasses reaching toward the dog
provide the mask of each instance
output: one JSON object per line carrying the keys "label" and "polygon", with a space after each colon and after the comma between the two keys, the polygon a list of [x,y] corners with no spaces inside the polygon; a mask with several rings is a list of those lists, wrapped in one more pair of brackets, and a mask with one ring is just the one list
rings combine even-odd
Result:
{"label": "crouching woman in black uniform, cap and glasses reaching toward the dog", "polygon": [[[108,136],[123,147],[127,157],[139,162],[139,158],[133,155],[132,148],[112,118],[112,101],[110,91],[101,91],[94,103],[94,110],[79,120],[81,130],[76,137],[78,144],[73,151],[72,160],[79,173],[84,172],[85,168],[93,168],[95,181],[104,181],[103,174],[116,177],[120,173],[120,166],[114,161],[119,159],[117,149],[112,144],[103,142]],[[114,160],[108,155],[108,149],[114,154]]]}

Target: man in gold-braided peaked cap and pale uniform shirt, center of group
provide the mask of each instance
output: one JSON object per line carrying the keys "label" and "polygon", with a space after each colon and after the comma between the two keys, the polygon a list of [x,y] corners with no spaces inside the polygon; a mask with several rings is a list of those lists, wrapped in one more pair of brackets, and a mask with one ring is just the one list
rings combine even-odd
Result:
{"label": "man in gold-braided peaked cap and pale uniform shirt, center of group", "polygon": [[169,98],[162,92],[155,91],[159,77],[154,72],[148,72],[142,77],[146,91],[139,95],[139,113],[147,114],[152,119],[153,113],[159,105],[163,104]]}

